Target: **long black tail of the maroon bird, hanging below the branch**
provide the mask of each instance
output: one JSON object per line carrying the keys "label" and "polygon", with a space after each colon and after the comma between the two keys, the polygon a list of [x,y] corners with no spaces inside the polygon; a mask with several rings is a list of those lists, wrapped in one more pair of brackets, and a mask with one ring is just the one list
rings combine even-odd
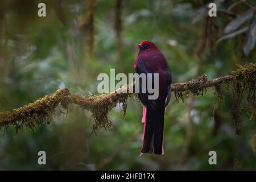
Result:
{"label": "long black tail of the maroon bird, hanging below the branch", "polygon": [[[144,112],[143,112],[144,113]],[[144,118],[144,117],[143,117]],[[144,119],[143,146],[141,155],[152,153],[162,155],[163,151],[163,129],[164,129],[164,107],[146,110]]]}

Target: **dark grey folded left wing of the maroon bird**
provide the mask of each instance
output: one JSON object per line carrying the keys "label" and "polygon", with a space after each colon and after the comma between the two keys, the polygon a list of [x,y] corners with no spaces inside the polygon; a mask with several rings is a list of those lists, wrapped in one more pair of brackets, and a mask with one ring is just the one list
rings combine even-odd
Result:
{"label": "dark grey folded left wing of the maroon bird", "polygon": [[[142,84],[141,79],[139,79],[139,82],[136,82],[136,86],[138,86],[137,88],[139,90],[139,94],[138,94],[139,100],[141,100],[141,102],[144,106],[154,109],[156,106],[156,101],[148,100],[148,95],[150,95],[150,94],[147,92],[147,88],[142,88],[142,86],[147,86],[147,74],[150,73],[146,69],[142,58],[140,58],[138,60],[137,67],[136,67],[136,73],[138,73],[139,75],[141,75],[142,73],[146,74],[146,84]],[[154,88],[154,73],[152,74],[152,88]],[[142,93],[143,89],[146,90],[146,93]]]}

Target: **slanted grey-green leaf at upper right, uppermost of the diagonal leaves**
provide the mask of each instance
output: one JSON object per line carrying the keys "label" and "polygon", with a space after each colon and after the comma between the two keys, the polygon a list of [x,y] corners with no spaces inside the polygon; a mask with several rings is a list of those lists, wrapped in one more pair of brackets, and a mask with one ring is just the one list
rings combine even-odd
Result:
{"label": "slanted grey-green leaf at upper right, uppermost of the diagonal leaves", "polygon": [[236,19],[234,19],[232,22],[230,22],[224,30],[224,34],[228,34],[229,32],[232,32],[236,30],[238,27],[241,26],[247,19],[250,19],[253,16],[254,10],[250,9],[246,11],[246,13],[238,16]]}

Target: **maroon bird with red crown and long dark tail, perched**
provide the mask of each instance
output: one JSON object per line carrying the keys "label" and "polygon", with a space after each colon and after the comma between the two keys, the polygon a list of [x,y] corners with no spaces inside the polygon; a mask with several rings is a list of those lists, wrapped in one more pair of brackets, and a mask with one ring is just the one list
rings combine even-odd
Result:
{"label": "maroon bird with red crown and long dark tail, perched", "polygon": [[[155,100],[148,99],[150,93],[146,88],[146,93],[142,93],[142,80],[136,82],[139,88],[139,99],[143,104],[143,146],[141,155],[154,151],[154,154],[163,155],[163,129],[164,112],[171,98],[171,71],[168,67],[166,58],[158,47],[152,42],[143,41],[138,44],[139,53],[134,63],[134,68],[138,75],[155,73],[159,76],[159,96]],[[147,78],[148,79],[148,78]],[[154,87],[154,78],[151,79]],[[156,85],[156,84],[155,84]]]}

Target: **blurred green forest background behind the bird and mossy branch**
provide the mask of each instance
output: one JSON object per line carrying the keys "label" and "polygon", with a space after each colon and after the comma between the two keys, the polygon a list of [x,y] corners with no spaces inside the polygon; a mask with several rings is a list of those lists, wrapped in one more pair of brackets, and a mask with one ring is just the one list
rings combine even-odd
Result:
{"label": "blurred green forest background behind the bird and mossy branch", "polygon": [[[46,17],[38,3],[46,3]],[[0,1],[0,111],[26,105],[59,88],[98,94],[99,73],[134,73],[137,44],[155,42],[166,56],[173,82],[203,73],[228,75],[236,64],[255,63],[256,2],[86,0]],[[109,113],[112,129],[92,132],[88,111],[59,107],[50,125],[2,127],[0,169],[256,169],[255,118],[243,109],[241,135],[233,129],[232,94],[214,92],[177,102],[166,110],[164,155],[143,155],[142,105],[129,99]],[[215,108],[215,109],[214,109]],[[214,117],[213,117],[214,115]],[[38,151],[47,165],[38,165]],[[209,165],[208,152],[217,152]]]}

